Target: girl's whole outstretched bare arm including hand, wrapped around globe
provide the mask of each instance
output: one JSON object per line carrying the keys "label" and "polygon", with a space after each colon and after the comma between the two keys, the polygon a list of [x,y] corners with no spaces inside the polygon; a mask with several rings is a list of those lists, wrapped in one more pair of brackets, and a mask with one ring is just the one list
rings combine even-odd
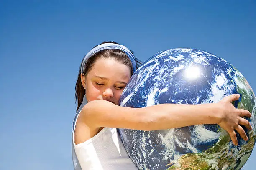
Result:
{"label": "girl's whole outstretched bare arm including hand, wrapped around globe", "polygon": [[243,116],[251,117],[251,113],[247,110],[236,109],[231,104],[238,98],[237,95],[230,95],[215,104],[161,104],[144,108],[120,107],[105,100],[95,100],[84,106],[79,119],[92,128],[113,127],[135,130],[161,130],[189,125],[219,124],[228,131],[233,143],[237,144],[234,130],[237,130],[244,140],[247,139],[239,124],[251,129],[250,123],[242,118]]}

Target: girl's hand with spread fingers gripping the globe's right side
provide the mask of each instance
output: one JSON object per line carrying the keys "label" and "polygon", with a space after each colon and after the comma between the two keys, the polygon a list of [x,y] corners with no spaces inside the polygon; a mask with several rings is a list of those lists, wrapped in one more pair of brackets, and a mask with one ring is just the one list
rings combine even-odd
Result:
{"label": "girl's hand with spread fingers gripping the globe's right side", "polygon": [[234,145],[238,145],[238,140],[236,137],[235,130],[240,134],[243,140],[247,141],[248,137],[246,136],[245,131],[241,127],[244,125],[248,130],[252,130],[250,122],[244,119],[243,117],[251,117],[251,113],[248,110],[236,109],[232,102],[238,100],[240,97],[239,94],[229,95],[224,97],[218,104],[221,108],[221,120],[218,123],[221,128],[225,129],[230,137]]}

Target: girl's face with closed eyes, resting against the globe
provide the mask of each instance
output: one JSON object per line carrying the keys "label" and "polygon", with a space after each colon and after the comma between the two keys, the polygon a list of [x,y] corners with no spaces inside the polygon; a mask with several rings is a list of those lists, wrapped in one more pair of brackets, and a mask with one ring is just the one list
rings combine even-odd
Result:
{"label": "girl's face with closed eyes, resting against the globe", "polygon": [[130,77],[128,66],[114,59],[97,59],[86,77],[81,74],[87,101],[107,100],[118,105]]}

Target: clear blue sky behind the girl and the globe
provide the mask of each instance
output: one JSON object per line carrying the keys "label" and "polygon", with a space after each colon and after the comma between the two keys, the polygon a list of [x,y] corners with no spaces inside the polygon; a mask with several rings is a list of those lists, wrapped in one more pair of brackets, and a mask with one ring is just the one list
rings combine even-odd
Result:
{"label": "clear blue sky behind the girl and the globe", "polygon": [[[1,170],[72,170],[77,73],[104,40],[143,61],[176,47],[211,52],[256,92],[255,0],[1,0]],[[256,149],[243,170],[255,170],[255,160]]]}

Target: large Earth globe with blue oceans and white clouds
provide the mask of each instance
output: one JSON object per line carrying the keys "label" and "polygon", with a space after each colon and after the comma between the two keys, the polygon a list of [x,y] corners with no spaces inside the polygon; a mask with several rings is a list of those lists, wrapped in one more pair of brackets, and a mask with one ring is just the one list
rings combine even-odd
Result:
{"label": "large Earth globe with blue oceans and white clouds", "polygon": [[[246,118],[253,130],[238,146],[216,124],[168,130],[118,129],[128,155],[140,170],[239,170],[256,140],[256,98],[250,85],[233,65],[202,50],[171,49],[148,59],[131,77],[120,106],[147,107],[162,103],[216,103],[239,93],[233,102],[252,113]],[[172,122],[170,122],[172,123]]]}

